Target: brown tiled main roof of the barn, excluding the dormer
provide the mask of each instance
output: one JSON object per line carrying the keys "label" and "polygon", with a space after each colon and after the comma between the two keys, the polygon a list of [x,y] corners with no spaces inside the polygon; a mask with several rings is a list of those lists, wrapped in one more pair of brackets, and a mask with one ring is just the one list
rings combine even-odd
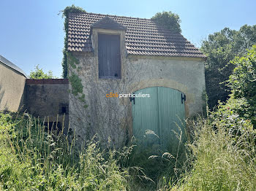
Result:
{"label": "brown tiled main roof of the barn, excluding the dormer", "polygon": [[125,26],[127,53],[131,55],[161,55],[172,57],[206,58],[200,50],[179,33],[159,26],[150,19],[120,17],[94,13],[70,13],[68,29],[69,51],[91,52],[91,25],[104,17],[110,17]]}

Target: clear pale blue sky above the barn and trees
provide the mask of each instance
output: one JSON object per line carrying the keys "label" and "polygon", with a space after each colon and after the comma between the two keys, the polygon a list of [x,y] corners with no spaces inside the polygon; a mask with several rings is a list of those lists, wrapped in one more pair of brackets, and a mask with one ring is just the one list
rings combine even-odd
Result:
{"label": "clear pale blue sky above the barn and trees", "polygon": [[255,0],[0,0],[0,55],[28,75],[39,65],[61,77],[64,19],[59,12],[72,4],[86,12],[128,17],[174,12],[181,34],[196,47],[225,27],[256,24]]}

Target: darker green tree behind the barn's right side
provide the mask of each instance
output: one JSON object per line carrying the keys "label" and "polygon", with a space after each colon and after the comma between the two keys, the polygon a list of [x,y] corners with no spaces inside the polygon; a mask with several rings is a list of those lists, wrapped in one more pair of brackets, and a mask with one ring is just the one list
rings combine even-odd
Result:
{"label": "darker green tree behind the barn's right side", "polygon": [[218,104],[218,100],[226,101],[230,88],[225,85],[234,66],[230,61],[241,56],[246,49],[256,43],[256,26],[242,26],[240,30],[224,28],[222,31],[210,34],[203,41],[200,50],[207,55],[206,62],[206,92],[210,109]]}

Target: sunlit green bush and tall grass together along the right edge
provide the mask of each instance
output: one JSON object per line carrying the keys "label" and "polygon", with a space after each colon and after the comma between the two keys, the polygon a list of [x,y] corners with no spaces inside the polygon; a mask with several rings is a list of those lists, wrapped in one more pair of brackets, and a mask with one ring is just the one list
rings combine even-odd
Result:
{"label": "sunlit green bush and tall grass together along the right edge", "polygon": [[[192,124],[190,156],[178,190],[255,190],[256,47],[241,58],[230,76],[230,98],[206,119]],[[170,188],[170,187],[169,187]]]}

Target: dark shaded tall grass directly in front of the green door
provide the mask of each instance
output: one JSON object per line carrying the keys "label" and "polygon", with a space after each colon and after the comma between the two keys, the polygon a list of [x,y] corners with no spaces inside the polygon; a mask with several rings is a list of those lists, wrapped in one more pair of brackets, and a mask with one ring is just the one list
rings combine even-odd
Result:
{"label": "dark shaded tall grass directly in front of the green door", "polygon": [[[185,125],[184,125],[185,126]],[[143,139],[132,141],[135,145],[129,155],[129,166],[139,166],[136,184],[140,190],[157,190],[167,182],[174,184],[178,181],[183,171],[184,162],[187,160],[185,150],[185,127],[177,125],[178,132],[173,131],[176,139],[170,139],[169,147],[156,144],[159,139],[153,131],[147,130]],[[135,179],[136,181],[136,179]]]}

